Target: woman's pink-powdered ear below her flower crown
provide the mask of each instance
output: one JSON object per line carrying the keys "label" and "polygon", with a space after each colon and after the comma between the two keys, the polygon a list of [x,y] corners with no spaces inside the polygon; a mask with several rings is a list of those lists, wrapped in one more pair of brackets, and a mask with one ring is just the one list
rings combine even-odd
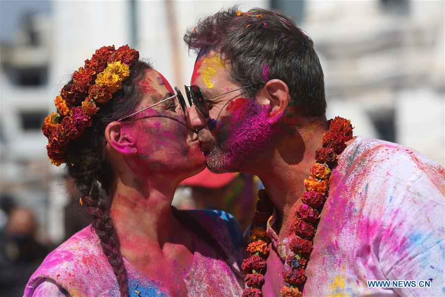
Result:
{"label": "woman's pink-powdered ear below her flower crown", "polygon": [[122,154],[137,153],[136,143],[132,135],[125,131],[125,124],[121,122],[111,122],[105,128],[105,139],[111,148]]}

